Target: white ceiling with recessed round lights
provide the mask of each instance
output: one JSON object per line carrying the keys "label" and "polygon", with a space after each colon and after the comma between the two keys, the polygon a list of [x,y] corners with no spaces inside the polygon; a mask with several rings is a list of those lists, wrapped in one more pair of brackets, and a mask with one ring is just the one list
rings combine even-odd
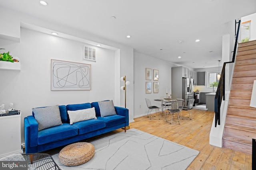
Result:
{"label": "white ceiling with recessed round lights", "polygon": [[190,68],[218,66],[225,23],[256,13],[256,0],[45,1],[48,6],[39,0],[0,0],[0,6]]}

